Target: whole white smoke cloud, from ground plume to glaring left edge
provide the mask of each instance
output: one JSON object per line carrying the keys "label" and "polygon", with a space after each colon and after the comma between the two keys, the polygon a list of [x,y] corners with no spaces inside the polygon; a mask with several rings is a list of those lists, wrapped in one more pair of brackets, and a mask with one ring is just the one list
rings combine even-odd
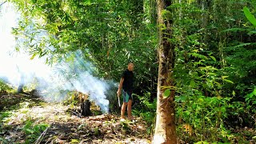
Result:
{"label": "whole white smoke cloud, from ground plume to glaring left edge", "polygon": [[97,70],[86,61],[82,51],[70,52],[67,60],[53,66],[45,64],[45,58],[34,58],[25,51],[15,50],[15,38],[11,28],[18,25],[19,14],[6,2],[0,10],[0,78],[12,86],[34,86],[42,98],[49,102],[62,102],[68,92],[89,94],[90,101],[108,113],[109,101],[106,91],[110,88],[103,79],[94,77]]}

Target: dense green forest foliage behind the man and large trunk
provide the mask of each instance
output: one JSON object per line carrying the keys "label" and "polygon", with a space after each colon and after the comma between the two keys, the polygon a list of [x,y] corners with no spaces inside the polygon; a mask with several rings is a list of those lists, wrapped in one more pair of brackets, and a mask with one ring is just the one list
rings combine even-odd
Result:
{"label": "dense green forest foliage behind the man and large trunk", "polygon": [[[154,0],[10,2],[22,14],[13,28],[17,50],[26,50],[31,59],[46,58],[52,65],[70,61],[68,54],[80,50],[95,66],[94,76],[111,82],[118,82],[133,61],[133,114],[145,119],[152,133],[158,81]],[[174,86],[167,87],[176,91],[179,139],[246,142],[238,131],[255,129],[256,27],[246,18],[255,15],[255,6],[254,0],[173,0],[162,11],[172,22]],[[8,86],[2,82],[0,87]],[[114,85],[109,90],[110,111],[117,107],[116,90]]]}

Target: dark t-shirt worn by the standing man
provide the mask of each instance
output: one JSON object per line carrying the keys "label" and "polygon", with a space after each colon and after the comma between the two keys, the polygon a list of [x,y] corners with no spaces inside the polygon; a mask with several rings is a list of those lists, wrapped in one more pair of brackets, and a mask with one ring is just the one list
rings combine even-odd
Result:
{"label": "dark t-shirt worn by the standing man", "polygon": [[122,78],[124,81],[122,82],[122,89],[125,91],[131,92],[134,89],[134,73],[130,70],[125,70],[122,73]]}

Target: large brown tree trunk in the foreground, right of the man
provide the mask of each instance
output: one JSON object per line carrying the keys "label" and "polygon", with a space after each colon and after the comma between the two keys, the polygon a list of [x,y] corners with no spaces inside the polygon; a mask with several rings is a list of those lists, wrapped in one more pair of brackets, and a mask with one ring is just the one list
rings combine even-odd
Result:
{"label": "large brown tree trunk in the foreground, right of the man", "polygon": [[170,6],[170,0],[157,0],[158,6],[158,105],[153,143],[177,143],[175,128],[174,90],[164,97],[162,86],[173,86],[174,46],[171,38],[171,21],[162,17],[162,10]]}

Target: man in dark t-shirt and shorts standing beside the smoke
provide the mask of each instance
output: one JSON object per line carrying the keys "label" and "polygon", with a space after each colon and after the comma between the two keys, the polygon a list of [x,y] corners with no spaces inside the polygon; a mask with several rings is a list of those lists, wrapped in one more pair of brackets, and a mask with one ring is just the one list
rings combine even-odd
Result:
{"label": "man in dark t-shirt and shorts standing beside the smoke", "polygon": [[120,80],[118,86],[118,97],[120,97],[122,93],[123,103],[121,109],[121,118],[125,118],[126,106],[128,105],[128,119],[131,120],[131,104],[133,101],[132,92],[134,88],[134,63],[129,62],[128,68],[122,73],[122,78]]}

